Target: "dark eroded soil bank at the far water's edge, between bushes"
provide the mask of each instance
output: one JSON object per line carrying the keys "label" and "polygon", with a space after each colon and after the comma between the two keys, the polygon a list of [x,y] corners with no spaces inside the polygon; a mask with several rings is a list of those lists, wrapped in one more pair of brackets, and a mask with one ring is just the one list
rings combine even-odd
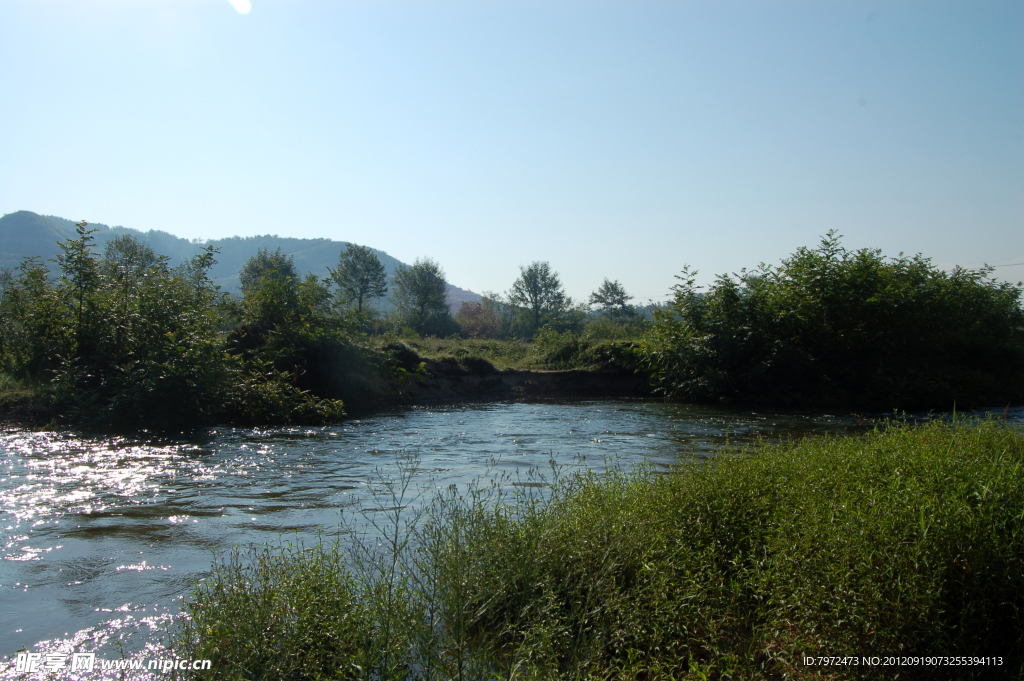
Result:
{"label": "dark eroded soil bank at the far water's edge, between bushes", "polygon": [[487,363],[427,360],[424,372],[390,386],[391,403],[486,401],[529,397],[639,397],[650,394],[646,376],[627,370],[497,371]]}

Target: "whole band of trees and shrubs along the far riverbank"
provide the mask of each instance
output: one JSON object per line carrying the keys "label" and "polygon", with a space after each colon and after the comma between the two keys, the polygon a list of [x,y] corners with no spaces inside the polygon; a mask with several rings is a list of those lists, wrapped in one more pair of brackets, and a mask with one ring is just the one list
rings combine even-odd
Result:
{"label": "whole band of trees and shrubs along the far riverbank", "polygon": [[[0,273],[4,418],[96,430],[323,423],[345,403],[366,411],[418,394],[404,387],[430,360],[481,375],[639,374],[694,402],[888,411],[1024,400],[1020,286],[989,269],[848,251],[834,233],[707,291],[684,269],[660,307],[633,305],[607,279],[573,301],[549,263],[534,262],[506,294],[455,312],[437,262],[418,259],[389,282],[356,246],[327,279],[260,250],[237,297],[210,280],[212,249],[172,267],[122,235],[100,256],[85,223],[60,249],[52,268],[30,258]],[[375,301],[388,293],[382,311]]]}

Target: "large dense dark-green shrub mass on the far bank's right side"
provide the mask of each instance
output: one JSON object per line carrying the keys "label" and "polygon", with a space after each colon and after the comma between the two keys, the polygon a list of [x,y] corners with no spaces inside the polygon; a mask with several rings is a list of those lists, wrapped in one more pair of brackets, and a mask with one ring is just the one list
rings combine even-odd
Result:
{"label": "large dense dark-green shrub mass on the far bank's right side", "polygon": [[1021,289],[988,269],[848,251],[829,232],[778,267],[684,270],[646,364],[667,396],[780,406],[948,409],[1024,398]]}

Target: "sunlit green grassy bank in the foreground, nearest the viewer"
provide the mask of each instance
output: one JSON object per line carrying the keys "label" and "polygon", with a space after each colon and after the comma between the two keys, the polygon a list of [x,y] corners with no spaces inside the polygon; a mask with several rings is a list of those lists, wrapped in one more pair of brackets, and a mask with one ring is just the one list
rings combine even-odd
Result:
{"label": "sunlit green grassy bank in the foreground, nearest the viewer", "polygon": [[227,557],[173,643],[218,678],[1020,678],[1022,463],[1017,426],[931,423],[450,491],[383,539]]}

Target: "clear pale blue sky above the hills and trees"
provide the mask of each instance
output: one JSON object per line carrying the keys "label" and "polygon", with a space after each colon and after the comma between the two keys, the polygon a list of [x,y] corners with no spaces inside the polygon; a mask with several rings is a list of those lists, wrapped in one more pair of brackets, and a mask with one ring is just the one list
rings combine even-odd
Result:
{"label": "clear pale blue sky above the hills and trees", "polygon": [[3,0],[0,213],[352,241],[478,292],[548,260],[575,297],[829,228],[1024,262],[1020,0],[250,1]]}

